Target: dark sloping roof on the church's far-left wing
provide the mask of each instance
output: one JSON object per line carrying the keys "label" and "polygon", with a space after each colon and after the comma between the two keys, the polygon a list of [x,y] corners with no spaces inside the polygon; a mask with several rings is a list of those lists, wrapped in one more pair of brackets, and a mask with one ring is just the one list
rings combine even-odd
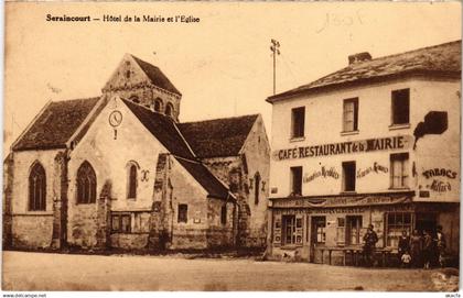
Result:
{"label": "dark sloping roof on the church's far-left wing", "polygon": [[13,144],[13,151],[65,148],[99,97],[52,101],[28,131]]}

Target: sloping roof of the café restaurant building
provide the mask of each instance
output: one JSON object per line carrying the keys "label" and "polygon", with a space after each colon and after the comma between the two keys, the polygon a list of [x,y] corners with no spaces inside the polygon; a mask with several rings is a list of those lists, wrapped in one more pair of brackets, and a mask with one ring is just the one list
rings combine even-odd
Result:
{"label": "sloping roof of the caf\u00e9 restaurant building", "polygon": [[273,102],[299,93],[373,82],[407,75],[460,78],[461,47],[461,41],[454,41],[370,60],[353,63],[315,81],[271,96],[267,101]]}

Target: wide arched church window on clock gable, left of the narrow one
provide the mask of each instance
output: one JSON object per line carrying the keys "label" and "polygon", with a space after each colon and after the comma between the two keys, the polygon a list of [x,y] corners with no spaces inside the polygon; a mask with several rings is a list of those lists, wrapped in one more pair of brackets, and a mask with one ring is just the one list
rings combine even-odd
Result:
{"label": "wide arched church window on clock gable, left of the narrow one", "polygon": [[96,175],[91,165],[85,161],[77,169],[77,203],[96,202]]}

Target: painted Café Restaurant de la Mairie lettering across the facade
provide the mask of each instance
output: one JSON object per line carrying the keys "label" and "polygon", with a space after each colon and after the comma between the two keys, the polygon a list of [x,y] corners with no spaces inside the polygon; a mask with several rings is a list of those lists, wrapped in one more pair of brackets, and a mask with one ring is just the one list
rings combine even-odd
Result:
{"label": "painted Caf\u00e9 Restaurant de la Mairie lettering across the facade", "polygon": [[406,150],[411,146],[412,142],[413,139],[411,135],[398,135],[390,137],[368,139],[313,146],[299,146],[293,148],[283,148],[274,151],[273,158],[277,161],[284,161],[295,158],[332,156],[341,154]]}

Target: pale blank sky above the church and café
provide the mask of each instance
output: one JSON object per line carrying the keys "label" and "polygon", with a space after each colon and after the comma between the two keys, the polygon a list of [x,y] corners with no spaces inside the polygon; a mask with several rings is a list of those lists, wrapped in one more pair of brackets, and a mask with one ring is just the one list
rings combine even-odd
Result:
{"label": "pale blank sky above the church and caf\u00e9", "polygon": [[[46,15],[185,15],[200,22],[47,22]],[[181,121],[249,113],[271,135],[272,57],[277,92],[347,66],[461,40],[459,2],[6,3],[4,147],[50,100],[88,98],[125,53],[157,65],[182,92]]]}

